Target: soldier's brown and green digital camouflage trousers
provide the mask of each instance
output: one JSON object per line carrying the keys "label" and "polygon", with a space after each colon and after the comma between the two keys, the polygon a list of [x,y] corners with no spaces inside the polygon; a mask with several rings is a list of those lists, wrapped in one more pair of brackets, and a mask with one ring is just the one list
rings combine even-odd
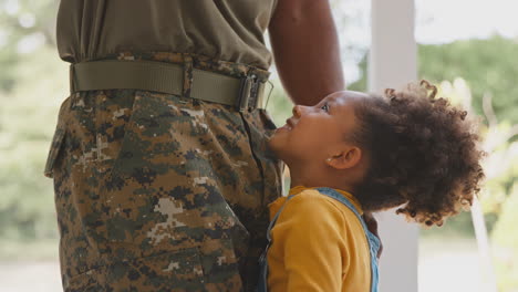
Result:
{"label": "soldier's brown and green digital camouflage trousers", "polygon": [[[175,53],[106,59],[187,62],[235,76],[251,70]],[[251,291],[267,205],[281,194],[281,164],[266,148],[273,129],[263,109],[169,94],[69,96],[45,169],[64,290]]]}

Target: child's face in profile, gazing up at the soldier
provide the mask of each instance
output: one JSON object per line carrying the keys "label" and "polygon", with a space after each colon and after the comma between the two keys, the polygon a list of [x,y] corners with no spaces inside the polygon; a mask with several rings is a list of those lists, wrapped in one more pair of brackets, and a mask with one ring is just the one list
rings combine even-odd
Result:
{"label": "child's face in profile, gazing up at the soldier", "polygon": [[288,165],[323,164],[354,133],[354,103],[365,97],[369,95],[343,91],[325,96],[314,106],[294,106],[293,116],[269,140],[270,148]]}

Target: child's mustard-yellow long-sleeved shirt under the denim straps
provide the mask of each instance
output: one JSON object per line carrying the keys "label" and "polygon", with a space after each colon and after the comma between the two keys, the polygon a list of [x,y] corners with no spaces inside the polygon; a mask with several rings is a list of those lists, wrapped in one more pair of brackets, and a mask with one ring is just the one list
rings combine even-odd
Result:
{"label": "child's mustard-yellow long-sleeved shirt under the denim straps", "polygon": [[[363,213],[351,194],[338,191]],[[315,189],[299,186],[290,195],[271,231],[269,291],[370,291],[371,255],[358,217]],[[270,220],[284,202],[286,197],[269,206]]]}

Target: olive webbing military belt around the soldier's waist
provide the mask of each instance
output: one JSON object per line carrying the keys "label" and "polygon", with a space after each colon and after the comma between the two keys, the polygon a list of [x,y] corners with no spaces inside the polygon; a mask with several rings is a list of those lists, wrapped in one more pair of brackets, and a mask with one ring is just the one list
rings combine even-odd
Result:
{"label": "olive webbing military belt around the soldier's waist", "polygon": [[184,91],[183,65],[153,61],[92,61],[71,65],[71,92],[143,90],[188,96],[235,106],[238,111],[263,108],[265,84],[256,74],[237,79],[193,69],[190,91]]}

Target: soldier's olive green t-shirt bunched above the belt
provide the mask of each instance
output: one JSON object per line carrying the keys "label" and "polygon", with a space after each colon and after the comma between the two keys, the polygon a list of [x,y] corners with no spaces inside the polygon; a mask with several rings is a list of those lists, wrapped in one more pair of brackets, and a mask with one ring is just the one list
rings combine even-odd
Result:
{"label": "soldier's olive green t-shirt bunched above the belt", "polygon": [[277,0],[63,0],[58,50],[71,63],[117,52],[193,53],[261,69]]}

